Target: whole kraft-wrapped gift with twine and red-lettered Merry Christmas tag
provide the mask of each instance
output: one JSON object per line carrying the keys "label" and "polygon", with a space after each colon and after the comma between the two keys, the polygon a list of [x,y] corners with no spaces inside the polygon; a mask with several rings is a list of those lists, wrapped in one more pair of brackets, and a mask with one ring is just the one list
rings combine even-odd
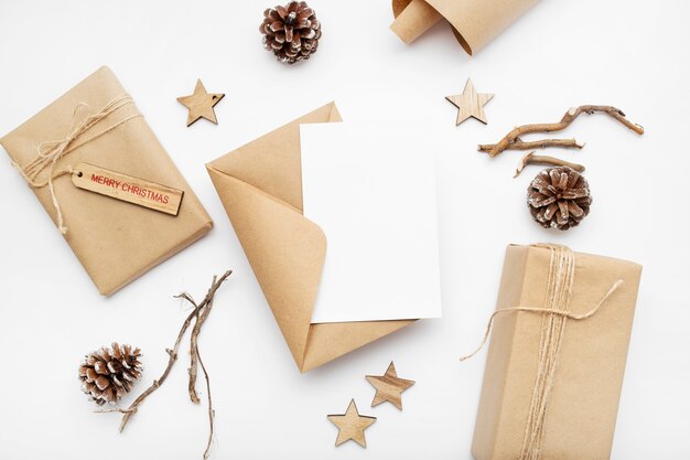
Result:
{"label": "whole kraft-wrapped gift with twine and red-lettered Merry Christmas tag", "polygon": [[0,145],[55,223],[55,235],[64,236],[103,295],[143,275],[213,225],[108,67]]}

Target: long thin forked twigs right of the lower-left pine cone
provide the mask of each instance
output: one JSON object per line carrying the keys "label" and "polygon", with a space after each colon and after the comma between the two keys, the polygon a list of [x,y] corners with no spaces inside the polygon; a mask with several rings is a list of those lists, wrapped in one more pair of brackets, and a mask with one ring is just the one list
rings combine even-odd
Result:
{"label": "long thin forked twigs right of the lower-left pine cone", "polygon": [[182,323],[182,328],[180,329],[180,332],[177,333],[177,339],[175,340],[174,346],[172,349],[165,349],[165,352],[168,353],[168,365],[165,366],[163,374],[158,379],[154,379],[151,386],[144,389],[143,393],[141,393],[127,409],[115,408],[115,409],[99,410],[103,413],[122,414],[122,421],[120,422],[120,432],[122,432],[122,430],[127,426],[127,422],[129,421],[131,416],[137,414],[137,411],[139,410],[139,406],[153,392],[160,388],[163,382],[165,382],[165,379],[168,378],[168,375],[170,374],[170,371],[172,370],[173,365],[177,361],[177,353],[180,351],[180,344],[182,343],[182,339],[184,338],[184,334],[186,333],[187,329],[190,329],[192,321],[196,320],[194,323],[194,328],[192,329],[192,334],[191,334],[191,340],[190,340],[191,363],[190,363],[190,370],[188,370],[188,373],[190,373],[188,391],[190,391],[190,397],[192,398],[192,400],[194,403],[198,403],[200,399],[196,394],[195,383],[196,383],[197,365],[201,365],[202,372],[204,373],[204,377],[206,379],[206,391],[208,394],[208,421],[209,421],[211,429],[209,429],[209,435],[208,435],[208,443],[206,446],[206,450],[204,451],[204,459],[208,458],[208,452],[211,450],[211,445],[213,441],[215,411],[213,409],[212,398],[211,398],[211,379],[208,376],[208,372],[206,371],[206,367],[204,366],[204,363],[202,361],[201,354],[198,352],[198,334],[201,332],[202,325],[208,318],[208,313],[211,312],[211,309],[213,308],[213,299],[214,299],[216,291],[218,290],[220,285],[223,285],[223,282],[225,282],[225,280],[231,274],[233,271],[228,270],[225,274],[223,274],[223,276],[220,276],[219,278],[214,277],[213,284],[211,288],[208,289],[206,297],[198,304],[194,301],[192,296],[190,296],[186,292],[182,292],[181,295],[175,296],[176,298],[181,298],[181,299],[188,301],[194,307],[194,310],[187,315],[187,318],[184,320],[184,323]]}

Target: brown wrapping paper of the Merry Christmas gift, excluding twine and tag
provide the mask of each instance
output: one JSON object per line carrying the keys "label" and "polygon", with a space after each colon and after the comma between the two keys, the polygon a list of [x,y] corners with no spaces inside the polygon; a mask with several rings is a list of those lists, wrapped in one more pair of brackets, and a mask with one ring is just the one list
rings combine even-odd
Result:
{"label": "brown wrapping paper of the Merry Christmas gift, excluding twine and tag", "polygon": [[[0,145],[12,161],[24,167],[36,158],[42,142],[67,136],[79,104],[87,104],[94,113],[125,94],[115,74],[101,67],[0,139]],[[137,114],[137,107],[128,104],[90,130],[97,133]],[[180,213],[173,216],[79,190],[68,174],[55,179],[55,196],[68,228],[65,239],[100,293],[109,296],[205,235],[213,223],[143,117],[84,142],[89,136],[87,132],[77,139],[76,148],[57,167],[87,162],[184,191]],[[40,178],[46,175],[44,172]],[[48,188],[34,189],[34,193],[57,223]]]}

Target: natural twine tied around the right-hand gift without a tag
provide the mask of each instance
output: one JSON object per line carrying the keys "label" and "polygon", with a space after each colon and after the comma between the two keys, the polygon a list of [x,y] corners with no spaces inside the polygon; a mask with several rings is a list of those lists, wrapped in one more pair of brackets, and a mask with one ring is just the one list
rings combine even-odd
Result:
{"label": "natural twine tied around the right-hand gift without a tag", "polygon": [[546,247],[551,250],[545,307],[510,307],[496,310],[488,319],[486,332],[484,333],[484,339],[479,346],[471,354],[460,359],[460,361],[468,360],[484,347],[492,331],[494,319],[498,314],[511,311],[542,313],[537,376],[532,388],[527,422],[525,424],[525,435],[520,456],[518,457],[519,460],[539,460],[541,458],[547,409],[551,396],[551,388],[553,387],[561,344],[565,334],[567,320],[582,321],[596,314],[606,300],[623,285],[623,280],[618,279],[592,309],[583,314],[574,314],[569,309],[575,278],[574,253],[564,246],[537,246]]}

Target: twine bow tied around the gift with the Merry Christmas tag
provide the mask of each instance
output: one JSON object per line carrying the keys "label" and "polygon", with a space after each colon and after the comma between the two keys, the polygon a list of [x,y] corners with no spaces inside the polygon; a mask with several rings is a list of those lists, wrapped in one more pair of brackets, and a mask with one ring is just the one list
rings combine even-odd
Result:
{"label": "twine bow tied around the gift with the Merry Christmas tag", "polygon": [[[88,143],[94,139],[97,139],[100,136],[110,132],[118,126],[131,120],[132,118],[141,117],[141,114],[139,113],[130,115],[109,126],[103,131],[91,136],[90,138],[83,140],[79,145],[73,146],[74,141],[82,139],[82,137],[95,125],[99,124],[101,120],[108,118],[115,111],[129,104],[133,104],[131,96],[122,95],[110,100],[104,106],[104,108],[101,108],[96,114],[91,114],[91,109],[88,104],[79,103],[74,108],[74,111],[72,114],[72,125],[69,127],[69,132],[64,139],[48,140],[39,143],[39,146],[36,147],[36,158],[23,168],[12,161],[12,167],[14,167],[20,172],[20,174],[22,174],[26,183],[29,183],[29,186],[31,186],[32,189],[42,189],[44,186],[48,188],[48,191],[51,193],[51,200],[53,201],[53,207],[55,208],[55,213],[57,214],[57,228],[63,235],[67,234],[67,227],[65,226],[60,201],[57,200],[57,196],[55,194],[53,181],[62,175],[72,174],[73,170],[71,165],[67,165],[66,168],[61,170],[56,170],[57,163],[67,153],[84,146],[85,143]],[[77,122],[80,109],[86,110],[86,117],[84,117],[82,121]],[[39,180],[39,174],[41,174],[45,170],[47,170],[47,178],[45,180]]]}

